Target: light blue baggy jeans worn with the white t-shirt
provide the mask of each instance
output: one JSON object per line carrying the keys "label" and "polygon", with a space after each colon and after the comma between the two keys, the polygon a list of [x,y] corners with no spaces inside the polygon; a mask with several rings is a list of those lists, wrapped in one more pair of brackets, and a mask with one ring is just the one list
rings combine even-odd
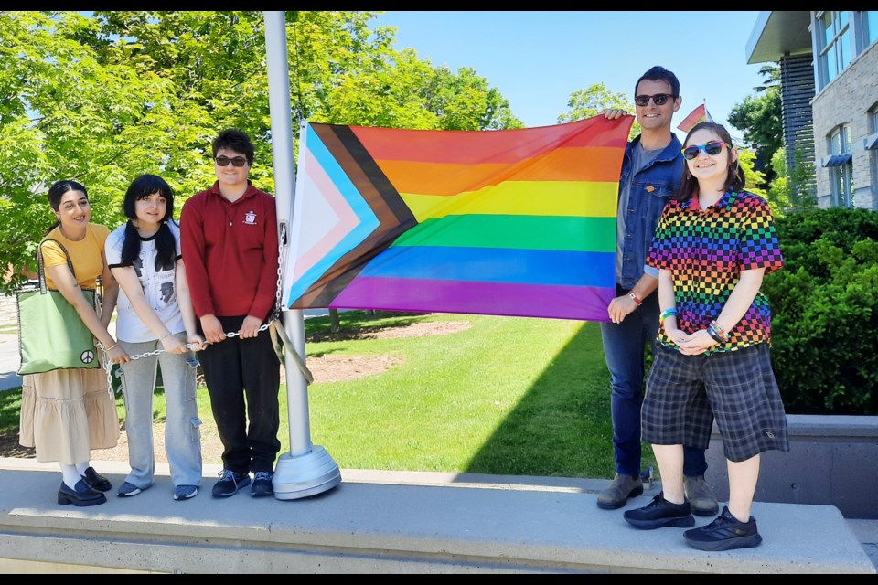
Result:
{"label": "light blue baggy jeans worn with the white t-shirt", "polygon": [[[186,343],[186,333],[176,335]],[[160,341],[129,343],[119,341],[129,356],[160,349]],[[165,453],[174,485],[201,485],[201,420],[196,400],[194,352],[133,359],[120,367],[125,399],[125,431],[128,433],[128,464],[131,473],[125,481],[145,489],[153,484],[155,452],[153,449],[153,393],[156,366],[162,368],[165,387]]]}

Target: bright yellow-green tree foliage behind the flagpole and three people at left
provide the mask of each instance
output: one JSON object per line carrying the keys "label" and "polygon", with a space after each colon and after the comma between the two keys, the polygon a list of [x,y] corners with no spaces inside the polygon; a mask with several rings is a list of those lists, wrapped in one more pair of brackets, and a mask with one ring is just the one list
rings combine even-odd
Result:
{"label": "bright yellow-green tree foliage behind the flagpole and three people at left", "polygon": [[[286,13],[294,119],[398,128],[518,128],[472,69],[395,51],[375,12]],[[273,192],[264,22],[257,11],[0,12],[0,266],[16,290],[52,223],[59,178],[89,189],[93,220],[122,223],[128,183],[166,178],[176,209],[213,180],[209,144],[235,127]],[[178,217],[178,215],[177,215]]]}

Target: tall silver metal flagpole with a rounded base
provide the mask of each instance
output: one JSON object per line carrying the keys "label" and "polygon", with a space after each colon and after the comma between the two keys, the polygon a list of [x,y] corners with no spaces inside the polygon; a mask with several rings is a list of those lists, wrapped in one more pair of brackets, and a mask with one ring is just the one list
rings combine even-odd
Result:
{"label": "tall silver metal flagpole with a rounded base", "polygon": [[[291,120],[290,69],[286,52],[286,19],[282,11],[264,11],[265,54],[268,62],[269,108],[272,115],[274,156],[274,204],[277,207],[278,236],[281,243],[279,282],[284,282],[293,219],[295,175],[293,125]],[[284,307],[285,309],[285,307]],[[286,369],[287,417],[290,423],[290,451],[282,454],[274,468],[274,497],[293,500],[332,489],[341,482],[338,465],[326,449],[314,445],[308,420],[308,387],[296,356],[305,363],[305,320],[302,311],[284,310],[284,367]]]}

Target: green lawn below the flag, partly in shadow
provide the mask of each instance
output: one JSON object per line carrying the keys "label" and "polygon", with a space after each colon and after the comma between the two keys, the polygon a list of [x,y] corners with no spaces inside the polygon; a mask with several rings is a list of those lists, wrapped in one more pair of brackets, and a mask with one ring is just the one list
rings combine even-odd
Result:
{"label": "green lawn below the flag, partly in shadow", "polygon": [[[343,312],[305,321],[308,358],[394,356],[375,376],[308,387],[310,438],[341,468],[610,478],[609,375],[599,325],[559,319]],[[467,321],[449,335],[350,339],[380,327]],[[321,341],[315,341],[315,339]],[[343,339],[347,338],[347,339]],[[286,380],[282,380],[285,382]],[[161,394],[161,392],[159,392]],[[281,452],[289,451],[285,384]],[[16,432],[20,390],[0,393],[0,432]],[[120,416],[124,409],[119,399]],[[209,397],[199,388],[206,431]],[[164,399],[156,397],[156,418]],[[655,466],[644,445],[644,467]]]}

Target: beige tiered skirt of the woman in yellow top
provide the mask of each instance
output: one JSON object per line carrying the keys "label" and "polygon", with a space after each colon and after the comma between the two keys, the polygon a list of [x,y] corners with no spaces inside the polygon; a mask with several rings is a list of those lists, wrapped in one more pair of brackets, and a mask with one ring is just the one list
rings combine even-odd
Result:
{"label": "beige tiered skirt of the woman in yellow top", "polygon": [[88,462],[92,449],[119,441],[115,400],[97,369],[57,369],[22,377],[18,442],[38,462]]}

